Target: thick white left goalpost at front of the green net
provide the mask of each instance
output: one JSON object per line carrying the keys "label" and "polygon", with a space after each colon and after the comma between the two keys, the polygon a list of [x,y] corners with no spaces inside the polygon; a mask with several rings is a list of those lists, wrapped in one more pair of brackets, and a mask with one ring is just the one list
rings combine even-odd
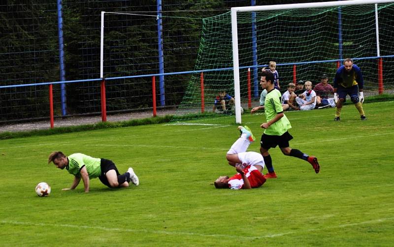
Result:
{"label": "thick white left goalpost at front of the green net", "polygon": [[241,124],[241,94],[239,88],[237,12],[231,8],[232,59],[234,70],[235,122]]}

